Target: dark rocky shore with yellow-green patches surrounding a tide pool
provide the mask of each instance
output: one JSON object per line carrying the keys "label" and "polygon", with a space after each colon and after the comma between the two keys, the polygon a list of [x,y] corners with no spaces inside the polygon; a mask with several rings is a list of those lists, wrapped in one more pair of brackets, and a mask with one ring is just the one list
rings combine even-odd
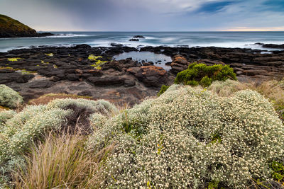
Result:
{"label": "dark rocky shore with yellow-green patches surrounding a tide pool", "polygon": [[[114,55],[147,51],[168,55],[170,71]],[[89,56],[95,57],[90,59]],[[103,62],[97,67],[98,62]],[[163,84],[190,62],[229,64],[240,81],[278,79],[284,73],[284,50],[261,51],[222,47],[42,47],[0,52],[0,84],[21,93],[25,100],[45,93],[72,93],[134,105],[155,96]],[[97,69],[99,68],[99,69]]]}

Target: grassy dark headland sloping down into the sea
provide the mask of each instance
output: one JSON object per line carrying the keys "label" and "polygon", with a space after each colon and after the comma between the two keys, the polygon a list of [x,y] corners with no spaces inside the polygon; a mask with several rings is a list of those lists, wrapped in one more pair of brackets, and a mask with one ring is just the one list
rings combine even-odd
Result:
{"label": "grassy dark headland sloping down into the sea", "polygon": [[37,33],[34,29],[23,23],[0,14],[0,38],[28,38],[44,37],[52,33]]}

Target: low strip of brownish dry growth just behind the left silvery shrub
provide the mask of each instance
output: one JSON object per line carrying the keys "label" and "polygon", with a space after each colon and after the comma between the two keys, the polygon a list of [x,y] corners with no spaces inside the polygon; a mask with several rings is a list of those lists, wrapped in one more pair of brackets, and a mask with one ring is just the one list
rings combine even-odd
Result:
{"label": "low strip of brownish dry growth just behind the left silvery shrub", "polygon": [[73,99],[84,98],[84,99],[90,99],[90,100],[93,99],[90,96],[77,96],[77,95],[65,94],[65,93],[49,93],[49,94],[40,96],[38,98],[32,99],[31,101],[28,101],[28,103],[31,105],[48,104],[50,101],[53,101],[58,98],[60,99],[62,98],[73,98]]}

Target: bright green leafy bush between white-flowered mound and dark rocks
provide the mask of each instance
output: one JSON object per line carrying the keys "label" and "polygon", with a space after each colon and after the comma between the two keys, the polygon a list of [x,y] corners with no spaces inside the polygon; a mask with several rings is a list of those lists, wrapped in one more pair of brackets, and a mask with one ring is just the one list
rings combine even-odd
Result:
{"label": "bright green leafy bush between white-flowered mound and dark rocks", "polygon": [[226,79],[236,80],[236,74],[229,65],[216,64],[207,66],[206,64],[192,63],[188,69],[180,71],[175,78],[175,84],[204,87],[209,86],[212,81],[225,81]]}

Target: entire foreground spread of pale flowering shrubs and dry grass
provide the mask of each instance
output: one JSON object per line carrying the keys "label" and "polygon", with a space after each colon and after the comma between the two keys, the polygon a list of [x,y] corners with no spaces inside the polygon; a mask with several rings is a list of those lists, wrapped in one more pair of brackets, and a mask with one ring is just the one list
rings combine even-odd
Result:
{"label": "entire foreground spread of pale flowering shrubs and dry grass", "polygon": [[1,186],[280,188],[283,86],[227,79],[163,86],[133,108],[66,95],[1,111]]}

